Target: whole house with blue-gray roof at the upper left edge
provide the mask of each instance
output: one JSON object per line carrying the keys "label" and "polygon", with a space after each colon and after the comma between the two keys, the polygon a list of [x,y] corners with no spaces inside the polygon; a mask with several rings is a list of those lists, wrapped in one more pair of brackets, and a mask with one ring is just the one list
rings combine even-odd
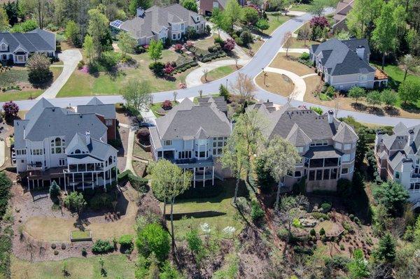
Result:
{"label": "whole house with blue-gray roof at the upper left edge", "polygon": [[55,57],[55,34],[35,29],[27,33],[0,32],[0,62],[25,64],[32,53]]}

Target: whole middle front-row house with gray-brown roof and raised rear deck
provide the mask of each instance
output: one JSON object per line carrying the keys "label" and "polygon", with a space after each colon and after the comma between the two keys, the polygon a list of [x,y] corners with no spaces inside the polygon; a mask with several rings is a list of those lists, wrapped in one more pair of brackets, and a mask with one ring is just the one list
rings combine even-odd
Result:
{"label": "whole middle front-row house with gray-brown roof and raised rear deck", "polygon": [[153,157],[193,171],[194,186],[228,177],[217,161],[231,132],[223,97],[202,98],[197,105],[186,98],[149,129]]}

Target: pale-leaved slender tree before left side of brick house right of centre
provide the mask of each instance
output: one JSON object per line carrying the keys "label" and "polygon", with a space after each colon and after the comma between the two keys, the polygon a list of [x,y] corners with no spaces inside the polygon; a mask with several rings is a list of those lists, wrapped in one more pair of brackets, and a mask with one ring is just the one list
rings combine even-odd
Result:
{"label": "pale-leaved slender tree before left side of brick house right of centre", "polygon": [[269,141],[267,149],[262,152],[262,156],[265,157],[265,169],[270,171],[271,176],[277,183],[276,203],[274,203],[274,210],[277,211],[284,177],[295,171],[295,165],[300,162],[302,157],[300,157],[295,146],[280,136],[274,136]]}

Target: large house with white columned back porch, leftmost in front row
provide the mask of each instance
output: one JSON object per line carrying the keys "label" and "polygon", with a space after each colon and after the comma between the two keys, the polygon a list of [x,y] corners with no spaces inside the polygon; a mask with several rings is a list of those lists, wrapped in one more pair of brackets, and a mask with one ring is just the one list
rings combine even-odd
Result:
{"label": "large house with white columned back porch, leftmost in front row", "polygon": [[[115,110],[115,108],[113,108]],[[95,113],[75,113],[41,99],[25,120],[15,120],[16,169],[22,183],[64,190],[93,189],[117,180],[117,152],[109,127]]]}

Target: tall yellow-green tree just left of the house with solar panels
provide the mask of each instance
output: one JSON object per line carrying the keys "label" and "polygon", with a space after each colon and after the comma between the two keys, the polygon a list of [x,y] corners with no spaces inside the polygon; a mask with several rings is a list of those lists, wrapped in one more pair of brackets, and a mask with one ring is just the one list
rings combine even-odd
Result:
{"label": "tall yellow-green tree just left of the house with solar panels", "polygon": [[97,57],[101,57],[103,51],[111,49],[112,38],[109,20],[96,8],[90,9],[88,14],[87,34],[92,36],[95,54]]}

